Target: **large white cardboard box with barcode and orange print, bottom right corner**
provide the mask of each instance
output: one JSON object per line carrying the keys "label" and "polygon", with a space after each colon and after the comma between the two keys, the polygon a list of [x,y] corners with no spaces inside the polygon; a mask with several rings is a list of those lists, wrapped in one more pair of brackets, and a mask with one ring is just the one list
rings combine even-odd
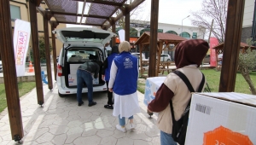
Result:
{"label": "large white cardboard box with barcode and orange print, bottom right corner", "polygon": [[256,96],[193,94],[185,144],[256,144]]}

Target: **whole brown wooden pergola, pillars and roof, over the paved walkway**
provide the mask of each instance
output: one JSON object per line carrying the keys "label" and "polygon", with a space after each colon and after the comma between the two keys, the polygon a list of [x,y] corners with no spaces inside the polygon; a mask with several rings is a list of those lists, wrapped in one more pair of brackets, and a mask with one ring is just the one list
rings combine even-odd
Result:
{"label": "whole brown wooden pergola, pillars and roof, over the paved walkway", "polygon": [[[102,29],[108,30],[112,26],[113,32],[115,31],[115,23],[125,16],[125,40],[130,39],[130,13],[131,10],[137,8],[140,3],[144,0],[134,0],[133,3],[127,5],[126,0],[116,1],[102,1],[102,0],[44,0],[48,6],[48,10],[40,9],[40,3],[42,0],[29,0],[29,17],[31,22],[31,33],[32,33],[32,50],[35,67],[36,77],[36,89],[38,104],[44,104],[44,93],[41,78],[41,67],[39,60],[39,49],[38,49],[38,20],[37,12],[40,12],[44,16],[44,39],[45,39],[45,52],[46,52],[46,65],[48,74],[49,90],[53,89],[52,76],[50,68],[50,56],[49,56],[49,30],[48,23],[51,24],[51,29],[55,29],[59,23],[66,24],[81,24],[90,26],[101,26]],[[88,14],[78,14],[78,3],[92,3]],[[151,0],[151,20],[150,20],[150,44],[149,57],[155,58],[156,48],[158,46],[157,40],[157,29],[158,29],[158,15],[159,15],[159,2],[160,0]],[[219,91],[230,92],[235,90],[236,84],[236,68],[237,60],[240,49],[241,39],[241,26],[244,13],[245,0],[229,1],[226,32],[224,40],[224,60],[223,69],[220,76]],[[103,9],[102,9],[103,7]],[[120,9],[121,14],[113,17],[116,10]],[[105,11],[105,10],[108,10]],[[54,17],[52,21],[50,18]],[[77,22],[78,17],[87,17],[88,21],[82,23]],[[172,19],[172,18],[171,18]],[[54,64],[56,64],[55,54],[55,35],[52,35],[53,41],[53,56]],[[113,41],[114,43],[114,41]],[[10,5],[9,1],[0,1],[0,50],[3,61],[3,74],[5,82],[5,91],[8,104],[9,122],[12,139],[19,142],[24,136],[22,119],[20,113],[20,98],[17,85],[17,75],[15,69],[15,56],[13,47],[13,36],[10,20]],[[155,59],[149,60],[148,76],[154,77],[155,73]]]}

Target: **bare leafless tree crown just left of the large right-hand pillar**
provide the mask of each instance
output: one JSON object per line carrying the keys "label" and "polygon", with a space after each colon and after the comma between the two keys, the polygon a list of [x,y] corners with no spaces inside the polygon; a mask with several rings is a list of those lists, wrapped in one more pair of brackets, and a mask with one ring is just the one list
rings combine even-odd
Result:
{"label": "bare leafless tree crown just left of the large right-hand pillar", "polygon": [[203,0],[200,11],[191,12],[192,25],[211,30],[219,43],[224,43],[228,0]]}

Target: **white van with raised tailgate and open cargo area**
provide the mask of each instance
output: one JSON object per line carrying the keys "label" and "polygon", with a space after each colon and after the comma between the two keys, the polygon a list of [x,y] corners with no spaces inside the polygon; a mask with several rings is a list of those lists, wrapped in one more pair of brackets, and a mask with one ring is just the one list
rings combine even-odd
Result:
{"label": "white van with raised tailgate and open cargo area", "polygon": [[[108,57],[108,51],[104,48],[111,38],[116,36],[113,32],[102,29],[85,27],[68,27],[53,31],[63,43],[57,64],[57,85],[59,96],[77,93],[77,69],[85,61],[91,61],[90,55],[94,55],[97,61],[104,61]],[[102,66],[101,66],[102,67]],[[107,90],[102,74],[93,82],[93,91]],[[82,90],[86,93],[84,84]]]}

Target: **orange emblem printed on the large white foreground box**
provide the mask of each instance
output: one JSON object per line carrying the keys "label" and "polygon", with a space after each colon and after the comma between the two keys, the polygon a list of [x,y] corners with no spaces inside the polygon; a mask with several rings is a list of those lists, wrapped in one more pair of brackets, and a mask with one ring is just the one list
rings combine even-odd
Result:
{"label": "orange emblem printed on the large white foreground box", "polygon": [[219,126],[204,134],[204,145],[253,145],[248,136]]}

